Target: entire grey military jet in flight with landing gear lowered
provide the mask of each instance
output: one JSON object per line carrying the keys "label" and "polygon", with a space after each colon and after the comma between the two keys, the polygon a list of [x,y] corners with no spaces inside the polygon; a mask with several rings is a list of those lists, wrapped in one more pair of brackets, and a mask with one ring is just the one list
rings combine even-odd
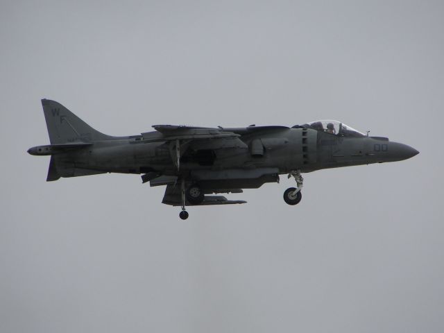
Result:
{"label": "entire grey military jet in flight with landing gear lowered", "polygon": [[327,168],[394,162],[418,154],[416,149],[386,137],[370,137],[339,121],[286,126],[207,128],[155,125],[152,132],[105,135],[60,103],[42,99],[51,144],[35,146],[31,155],[51,155],[47,181],[98,173],[142,174],[142,182],[167,186],[162,203],[187,205],[246,203],[221,193],[241,193],[279,176],[294,177],[296,187],[284,201],[297,205],[301,173]]}

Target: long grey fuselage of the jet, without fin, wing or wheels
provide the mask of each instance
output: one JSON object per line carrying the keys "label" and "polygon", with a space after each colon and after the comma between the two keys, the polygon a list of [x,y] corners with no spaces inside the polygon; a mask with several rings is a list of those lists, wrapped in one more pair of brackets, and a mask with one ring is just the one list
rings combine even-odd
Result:
{"label": "long grey fuselage of the jet, without fin, wing or wheels", "polygon": [[[405,160],[417,151],[381,137],[345,137],[311,128],[224,128],[241,135],[245,146],[207,149],[205,142],[183,144],[180,169],[174,163],[169,142],[155,131],[133,137],[114,137],[72,151],[53,154],[62,177],[76,176],[75,169],[115,173],[158,172],[162,175],[189,175],[198,170],[276,169],[277,173],[348,167],[377,162]],[[153,142],[153,139],[159,139]],[[39,147],[35,155],[50,155]],[[65,172],[63,172],[65,170]]]}

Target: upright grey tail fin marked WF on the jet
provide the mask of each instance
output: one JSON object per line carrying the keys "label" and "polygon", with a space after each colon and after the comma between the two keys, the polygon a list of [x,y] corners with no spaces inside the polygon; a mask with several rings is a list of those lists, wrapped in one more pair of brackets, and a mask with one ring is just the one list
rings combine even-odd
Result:
{"label": "upright grey tail fin marked WF on the jet", "polygon": [[56,101],[42,99],[42,106],[51,144],[93,142],[114,138],[94,130],[76,114]]}

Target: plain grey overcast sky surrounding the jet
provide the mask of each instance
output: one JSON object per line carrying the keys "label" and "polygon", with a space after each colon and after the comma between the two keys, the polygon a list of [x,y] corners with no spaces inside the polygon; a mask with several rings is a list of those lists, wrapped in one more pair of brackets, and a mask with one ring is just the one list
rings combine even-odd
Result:
{"label": "plain grey overcast sky surrounding the jet", "polygon": [[[442,1],[0,2],[0,332],[443,332]],[[110,135],[339,119],[420,151],[191,207],[46,183],[40,99]]]}

